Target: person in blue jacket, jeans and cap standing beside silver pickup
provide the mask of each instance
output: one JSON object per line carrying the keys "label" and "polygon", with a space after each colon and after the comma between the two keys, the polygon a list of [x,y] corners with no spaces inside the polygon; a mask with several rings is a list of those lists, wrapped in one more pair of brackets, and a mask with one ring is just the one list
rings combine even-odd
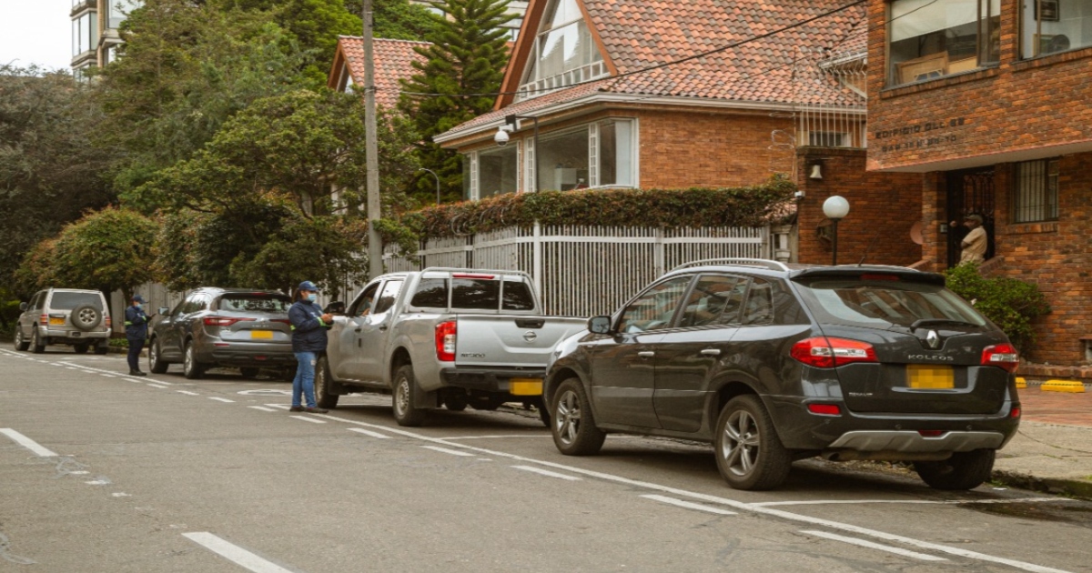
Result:
{"label": "person in blue jacket, jeans and cap standing beside silver pickup", "polygon": [[[288,309],[292,323],[292,351],[296,355],[296,378],[292,381],[290,411],[323,414],[330,411],[314,403],[314,362],[327,349],[327,331],[333,326],[333,314],[322,312],[316,302],[319,287],[304,280],[296,288],[296,302]],[[306,399],[307,407],[302,406]]]}

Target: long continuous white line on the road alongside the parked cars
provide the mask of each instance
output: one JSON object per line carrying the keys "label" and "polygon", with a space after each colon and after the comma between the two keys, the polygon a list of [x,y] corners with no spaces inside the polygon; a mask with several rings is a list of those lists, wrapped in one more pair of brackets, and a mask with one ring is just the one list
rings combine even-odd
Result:
{"label": "long continuous white line on the road alongside the parked cars", "polygon": [[357,420],[351,420],[348,418],[339,418],[336,416],[330,416],[330,415],[322,415],[321,417],[327,418],[327,419],[331,419],[331,420],[343,421],[343,422],[352,423],[352,425],[356,425],[356,426],[365,426],[365,427],[370,427],[370,428],[377,428],[377,429],[384,430],[384,431],[388,431],[388,432],[391,432],[391,433],[395,433],[395,434],[399,434],[399,435],[404,435],[406,438],[413,438],[415,440],[420,440],[420,441],[425,441],[425,442],[432,442],[432,443],[437,443],[437,444],[449,445],[449,446],[452,446],[452,447],[459,447],[459,449],[462,449],[462,450],[468,450],[468,451],[477,452],[478,454],[491,455],[491,456],[496,456],[496,457],[506,457],[506,458],[509,458],[509,459],[517,459],[517,461],[520,461],[520,462],[535,464],[535,465],[538,465],[538,466],[553,467],[553,468],[556,468],[556,469],[571,471],[573,474],[580,474],[580,475],[587,476],[587,477],[594,477],[596,479],[602,479],[604,481],[613,481],[615,484],[622,484],[622,485],[626,485],[626,486],[637,487],[637,488],[642,488],[642,489],[651,489],[653,491],[660,491],[662,493],[670,493],[673,496],[678,496],[678,497],[682,497],[682,498],[691,498],[691,499],[697,499],[697,500],[701,500],[701,501],[705,501],[705,502],[710,502],[710,503],[719,503],[719,504],[727,505],[729,508],[737,509],[737,510],[740,510],[740,511],[757,513],[759,515],[768,515],[768,516],[771,516],[771,517],[778,517],[778,518],[790,521],[790,522],[803,522],[803,523],[807,523],[807,524],[811,524],[811,525],[821,525],[821,526],[824,526],[824,527],[829,527],[831,529],[841,529],[843,532],[851,532],[851,533],[855,533],[855,534],[858,534],[858,535],[865,535],[865,536],[868,536],[868,537],[876,537],[876,538],[885,539],[885,540],[888,540],[888,541],[899,541],[901,544],[905,544],[905,545],[910,545],[910,546],[916,546],[916,547],[919,547],[922,549],[930,549],[933,551],[939,551],[939,552],[949,553],[949,554],[953,554],[953,556],[964,557],[964,558],[968,558],[968,559],[974,559],[974,560],[978,560],[978,561],[987,561],[987,562],[990,562],[990,563],[1000,563],[1000,564],[1009,565],[1011,568],[1020,569],[1020,570],[1023,570],[1023,571],[1031,571],[1033,573],[1069,573],[1069,572],[1060,570],[1060,569],[1053,569],[1053,568],[1047,568],[1047,566],[1043,566],[1043,565],[1036,565],[1034,563],[1028,563],[1028,562],[1019,561],[1019,560],[1016,560],[1016,559],[1007,559],[1007,558],[1002,558],[1002,557],[995,557],[995,556],[990,556],[990,554],[986,554],[986,553],[980,553],[977,551],[970,551],[970,550],[960,549],[960,548],[957,548],[957,547],[949,547],[949,546],[945,546],[945,545],[940,545],[940,544],[934,544],[934,542],[930,542],[930,541],[921,541],[921,540],[913,539],[913,538],[910,538],[910,537],[903,537],[901,535],[894,535],[894,534],[889,534],[889,533],[885,533],[885,532],[879,532],[879,530],[876,530],[876,529],[869,529],[867,527],[858,527],[856,525],[850,525],[850,524],[845,524],[845,523],[839,523],[839,522],[833,522],[833,521],[829,521],[829,520],[822,520],[822,518],[819,518],[819,517],[811,517],[811,516],[808,516],[808,515],[800,515],[800,514],[796,514],[796,513],[790,513],[790,512],[786,512],[786,511],[775,510],[773,508],[763,508],[761,505],[757,505],[757,504],[752,504],[752,503],[746,503],[746,502],[741,502],[741,501],[736,501],[736,500],[732,500],[732,499],[727,499],[727,498],[721,498],[721,497],[717,497],[717,496],[710,496],[708,493],[699,493],[699,492],[696,492],[696,491],[688,491],[688,490],[684,490],[684,489],[673,488],[673,487],[669,487],[669,486],[662,486],[660,484],[652,484],[650,481],[641,481],[641,480],[630,479],[630,478],[626,478],[626,477],[621,477],[621,476],[615,476],[615,475],[612,475],[612,474],[604,474],[602,471],[593,471],[593,470],[583,469],[583,468],[580,468],[580,467],[567,466],[565,464],[558,464],[556,462],[547,462],[545,459],[535,459],[535,458],[532,458],[532,457],[524,457],[524,456],[517,455],[517,454],[510,454],[508,452],[498,452],[496,450],[487,450],[485,447],[477,447],[477,446],[473,446],[473,445],[466,445],[466,444],[459,443],[459,442],[448,442],[448,441],[444,441],[441,438],[430,438],[428,435],[422,435],[419,433],[414,433],[414,432],[411,432],[411,431],[395,429],[395,428],[388,428],[385,426],[378,426],[378,425],[373,425],[373,423],[367,423],[367,422],[361,422],[361,421],[357,421]]}

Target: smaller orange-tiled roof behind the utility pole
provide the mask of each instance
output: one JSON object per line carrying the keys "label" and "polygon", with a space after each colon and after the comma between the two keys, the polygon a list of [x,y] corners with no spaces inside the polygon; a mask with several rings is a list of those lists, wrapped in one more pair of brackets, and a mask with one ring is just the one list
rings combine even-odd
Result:
{"label": "smaller orange-tiled roof behind the utility pole", "polygon": [[[427,41],[406,39],[375,38],[372,50],[376,60],[376,105],[393,109],[399,103],[399,91],[402,86],[399,80],[408,80],[416,70],[412,62],[425,62],[425,58],[414,50],[414,47],[429,46]],[[347,65],[346,65],[347,64]],[[330,70],[328,86],[331,89],[341,88],[345,79],[342,71],[348,68],[353,84],[364,85],[364,38],[358,36],[339,36],[337,51],[334,64]]]}

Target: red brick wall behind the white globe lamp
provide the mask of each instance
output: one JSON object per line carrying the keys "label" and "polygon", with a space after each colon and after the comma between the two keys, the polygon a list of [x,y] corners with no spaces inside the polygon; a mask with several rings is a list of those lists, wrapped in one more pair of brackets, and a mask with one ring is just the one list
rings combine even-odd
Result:
{"label": "red brick wall behind the white globe lamp", "polygon": [[[911,240],[911,228],[922,220],[921,174],[865,171],[865,150],[802,147],[797,204],[799,262],[830,264],[832,246],[817,237],[827,217],[823,202],[842,195],[850,214],[838,226],[838,262],[910,265],[922,259],[922,246]],[[808,178],[814,160],[822,162],[822,180]],[[871,246],[869,248],[869,246]]]}

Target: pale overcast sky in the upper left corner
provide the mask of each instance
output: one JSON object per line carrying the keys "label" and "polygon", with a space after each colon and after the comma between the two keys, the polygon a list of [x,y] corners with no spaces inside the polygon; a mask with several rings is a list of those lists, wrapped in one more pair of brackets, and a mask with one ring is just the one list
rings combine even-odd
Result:
{"label": "pale overcast sky in the upper left corner", "polygon": [[70,70],[72,0],[0,0],[0,63]]}

